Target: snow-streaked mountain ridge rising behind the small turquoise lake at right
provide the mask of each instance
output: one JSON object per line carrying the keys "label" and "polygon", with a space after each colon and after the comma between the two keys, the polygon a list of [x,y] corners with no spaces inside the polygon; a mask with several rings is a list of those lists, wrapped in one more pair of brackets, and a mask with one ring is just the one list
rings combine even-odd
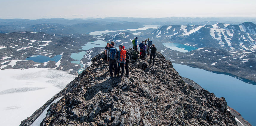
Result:
{"label": "snow-streaked mountain ridge rising behind the small turquoise lake at right", "polygon": [[256,50],[256,25],[166,25],[152,32],[154,39],[189,46],[221,48],[229,51]]}

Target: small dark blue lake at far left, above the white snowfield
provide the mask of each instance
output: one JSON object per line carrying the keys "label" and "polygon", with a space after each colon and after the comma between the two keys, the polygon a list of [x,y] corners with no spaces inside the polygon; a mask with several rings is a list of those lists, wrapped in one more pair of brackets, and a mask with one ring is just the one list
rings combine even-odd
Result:
{"label": "small dark blue lake at far left, above the white snowfield", "polygon": [[61,56],[62,55],[56,55],[53,58],[49,58],[48,56],[43,56],[43,55],[33,55],[33,56],[27,57],[26,60],[33,60],[34,62],[37,62],[37,63],[44,63],[50,60],[58,62],[61,59]]}

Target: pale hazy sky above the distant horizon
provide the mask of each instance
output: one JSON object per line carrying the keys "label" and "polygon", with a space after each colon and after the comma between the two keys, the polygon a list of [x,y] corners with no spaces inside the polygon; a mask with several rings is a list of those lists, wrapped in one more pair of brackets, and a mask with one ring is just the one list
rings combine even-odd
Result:
{"label": "pale hazy sky above the distant horizon", "polygon": [[256,17],[256,0],[0,0],[2,19]]}

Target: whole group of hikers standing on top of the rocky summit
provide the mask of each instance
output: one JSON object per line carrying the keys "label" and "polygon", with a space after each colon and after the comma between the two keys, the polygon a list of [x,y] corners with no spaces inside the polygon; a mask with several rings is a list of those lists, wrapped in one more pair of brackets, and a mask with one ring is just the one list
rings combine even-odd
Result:
{"label": "whole group of hikers standing on top of the rocky summit", "polygon": [[[132,40],[134,51],[138,51],[137,39],[138,37],[135,37]],[[114,71],[114,76],[122,77],[124,74],[124,67],[125,67],[125,70],[126,70],[125,76],[129,77],[128,65],[129,65],[129,60],[132,58],[132,55],[130,51],[125,49],[125,47],[122,44],[118,46],[119,50],[117,50],[117,48],[114,47],[114,45],[115,45],[115,42],[112,41],[110,43],[107,43],[107,46],[105,47],[105,55],[107,56],[107,61],[109,63],[110,76],[113,77],[113,71]],[[151,52],[149,66],[151,65],[152,58],[153,58],[152,66],[154,66],[154,58],[155,58],[155,52],[157,51],[157,48],[155,47],[154,44],[152,44],[152,41],[150,41],[149,38],[146,39],[145,41],[141,41],[141,43],[139,44],[139,47],[140,47],[140,58],[142,60],[145,60],[146,51],[147,51],[147,55],[149,55],[149,52]],[[151,51],[149,49],[151,49]],[[121,75],[119,75],[120,68],[121,68]]]}

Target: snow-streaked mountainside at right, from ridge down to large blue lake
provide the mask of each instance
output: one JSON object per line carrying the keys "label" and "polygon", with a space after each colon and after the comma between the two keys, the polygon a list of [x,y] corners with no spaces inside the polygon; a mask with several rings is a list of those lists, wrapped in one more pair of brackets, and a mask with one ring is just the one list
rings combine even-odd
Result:
{"label": "snow-streaked mountainside at right, from ridge down to large blue lake", "polygon": [[174,42],[199,48],[187,53],[164,51],[163,54],[175,63],[208,71],[227,72],[256,81],[256,25],[254,23],[165,25],[154,30],[151,35],[153,40],[161,43]]}

